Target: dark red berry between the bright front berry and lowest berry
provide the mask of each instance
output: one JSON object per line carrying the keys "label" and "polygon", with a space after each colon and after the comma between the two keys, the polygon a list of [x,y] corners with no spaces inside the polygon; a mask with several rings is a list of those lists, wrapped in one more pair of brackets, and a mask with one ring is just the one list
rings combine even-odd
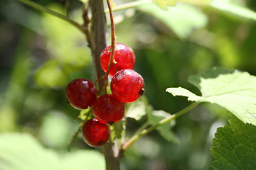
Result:
{"label": "dark red berry between the bright front berry and lowest berry", "polygon": [[100,96],[93,106],[93,114],[103,123],[115,123],[124,117],[124,103],[110,94]]}

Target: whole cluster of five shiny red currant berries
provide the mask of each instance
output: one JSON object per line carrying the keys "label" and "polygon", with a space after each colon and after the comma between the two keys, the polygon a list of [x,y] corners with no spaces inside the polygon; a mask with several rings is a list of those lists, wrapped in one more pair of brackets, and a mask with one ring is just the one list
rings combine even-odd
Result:
{"label": "whole cluster of five shiny red currant berries", "polygon": [[[102,69],[107,72],[110,62],[111,46],[105,48],[100,55]],[[114,61],[110,67],[112,76],[110,89],[112,94],[98,96],[97,90],[87,79],[71,81],[65,91],[71,106],[86,109],[93,106],[95,118],[87,120],[82,126],[82,136],[91,146],[104,145],[110,137],[110,125],[124,116],[124,103],[136,101],[144,94],[144,80],[133,69],[135,55],[131,47],[117,43],[114,48]]]}

